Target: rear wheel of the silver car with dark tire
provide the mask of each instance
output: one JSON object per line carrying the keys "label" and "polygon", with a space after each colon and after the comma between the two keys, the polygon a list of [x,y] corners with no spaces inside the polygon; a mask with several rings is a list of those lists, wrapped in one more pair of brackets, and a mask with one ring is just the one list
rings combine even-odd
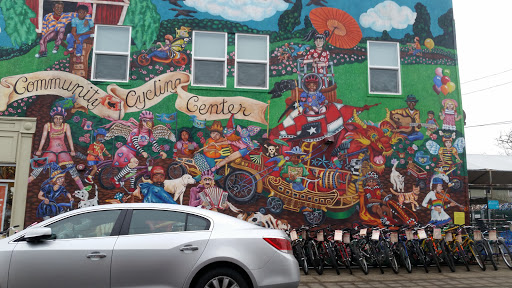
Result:
{"label": "rear wheel of the silver car with dark tire", "polygon": [[248,288],[246,280],[235,270],[216,268],[208,271],[199,278],[195,288]]}

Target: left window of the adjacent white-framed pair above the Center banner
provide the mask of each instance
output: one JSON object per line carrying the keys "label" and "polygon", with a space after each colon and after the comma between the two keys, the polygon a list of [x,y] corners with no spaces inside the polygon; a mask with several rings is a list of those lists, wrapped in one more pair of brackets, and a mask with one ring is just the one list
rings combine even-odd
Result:
{"label": "left window of the adjacent white-framed pair above the Center banner", "polygon": [[192,85],[226,87],[228,34],[192,32]]}

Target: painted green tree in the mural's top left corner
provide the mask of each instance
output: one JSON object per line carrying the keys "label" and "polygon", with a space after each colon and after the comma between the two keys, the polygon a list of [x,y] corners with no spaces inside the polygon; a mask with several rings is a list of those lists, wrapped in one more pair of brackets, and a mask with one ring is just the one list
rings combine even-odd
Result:
{"label": "painted green tree in the mural's top left corner", "polygon": [[36,13],[30,10],[25,1],[0,1],[0,8],[5,19],[5,32],[14,47],[36,40],[36,27],[30,22]]}

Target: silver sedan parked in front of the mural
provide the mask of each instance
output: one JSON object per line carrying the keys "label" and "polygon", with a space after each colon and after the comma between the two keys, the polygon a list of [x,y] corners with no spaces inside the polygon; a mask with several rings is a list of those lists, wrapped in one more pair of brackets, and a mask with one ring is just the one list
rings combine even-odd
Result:
{"label": "silver sedan parked in front of the mural", "polygon": [[0,287],[297,287],[283,231],[172,204],[74,210],[0,240]]}

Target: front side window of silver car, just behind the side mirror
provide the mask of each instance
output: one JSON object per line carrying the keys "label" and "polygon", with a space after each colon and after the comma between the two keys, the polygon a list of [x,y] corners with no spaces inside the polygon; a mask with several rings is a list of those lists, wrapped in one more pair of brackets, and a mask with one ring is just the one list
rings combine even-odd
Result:
{"label": "front side window of silver car, just behind the side mirror", "polygon": [[46,227],[55,239],[110,236],[121,210],[95,211],[71,216]]}

